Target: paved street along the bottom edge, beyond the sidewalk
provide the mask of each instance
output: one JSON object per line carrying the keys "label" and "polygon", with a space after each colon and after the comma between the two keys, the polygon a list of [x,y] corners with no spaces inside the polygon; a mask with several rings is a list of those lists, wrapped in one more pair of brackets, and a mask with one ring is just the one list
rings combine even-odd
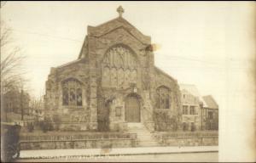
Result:
{"label": "paved street along the bottom edge, beyond the sidewalk", "polygon": [[152,162],[218,162],[218,152],[182,153],[165,155],[119,155],[119,156],[68,156],[55,159],[25,159],[16,162],[119,162],[119,161],[152,161]]}

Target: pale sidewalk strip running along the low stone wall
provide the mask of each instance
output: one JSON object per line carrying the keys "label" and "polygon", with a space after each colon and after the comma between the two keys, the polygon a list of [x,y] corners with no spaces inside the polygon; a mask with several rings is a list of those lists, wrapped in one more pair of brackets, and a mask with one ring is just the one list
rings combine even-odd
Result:
{"label": "pale sidewalk strip running along the low stone wall", "polygon": [[205,153],[218,152],[218,146],[196,147],[138,147],[119,149],[44,149],[21,150],[20,159],[28,158],[56,158],[67,156],[98,156],[98,155],[158,155],[177,153]]}

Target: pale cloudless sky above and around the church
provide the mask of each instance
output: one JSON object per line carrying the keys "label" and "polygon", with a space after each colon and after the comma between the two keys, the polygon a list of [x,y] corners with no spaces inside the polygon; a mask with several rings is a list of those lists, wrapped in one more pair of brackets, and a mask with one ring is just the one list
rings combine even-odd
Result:
{"label": "pale cloudless sky above and around the church", "polygon": [[225,117],[245,114],[232,111],[237,106],[253,107],[253,2],[7,2],[1,20],[26,54],[34,96],[44,94],[50,67],[78,58],[87,26],[116,18],[119,5],[125,20],[160,45],[155,65],[178,83],[212,94]]}

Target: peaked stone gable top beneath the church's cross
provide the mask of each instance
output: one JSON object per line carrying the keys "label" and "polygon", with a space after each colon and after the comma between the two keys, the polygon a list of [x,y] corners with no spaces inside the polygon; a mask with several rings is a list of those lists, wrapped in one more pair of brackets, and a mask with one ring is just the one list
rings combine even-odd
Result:
{"label": "peaked stone gable top beneath the church's cross", "polygon": [[131,25],[131,23],[129,23],[122,17],[109,20],[108,22],[103,23],[102,25],[88,26],[87,33],[88,36],[102,37],[108,34],[109,32],[119,28],[123,28],[125,31],[129,32],[133,37],[136,37],[137,40],[139,40],[143,44],[149,44],[151,42],[150,37],[143,35],[141,31],[138,31],[135,26]]}

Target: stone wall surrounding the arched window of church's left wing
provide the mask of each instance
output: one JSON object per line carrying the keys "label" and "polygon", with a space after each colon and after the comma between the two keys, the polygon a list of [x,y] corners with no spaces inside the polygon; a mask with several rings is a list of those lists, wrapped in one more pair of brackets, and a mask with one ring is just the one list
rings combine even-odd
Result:
{"label": "stone wall surrounding the arched window of church's left wing", "polygon": [[83,59],[76,60],[73,63],[62,65],[59,67],[51,68],[46,82],[46,93],[44,96],[45,100],[45,114],[51,114],[57,110],[67,109],[62,105],[62,90],[61,82],[74,78],[83,84],[83,106],[84,110],[88,107],[88,76],[87,67]]}

